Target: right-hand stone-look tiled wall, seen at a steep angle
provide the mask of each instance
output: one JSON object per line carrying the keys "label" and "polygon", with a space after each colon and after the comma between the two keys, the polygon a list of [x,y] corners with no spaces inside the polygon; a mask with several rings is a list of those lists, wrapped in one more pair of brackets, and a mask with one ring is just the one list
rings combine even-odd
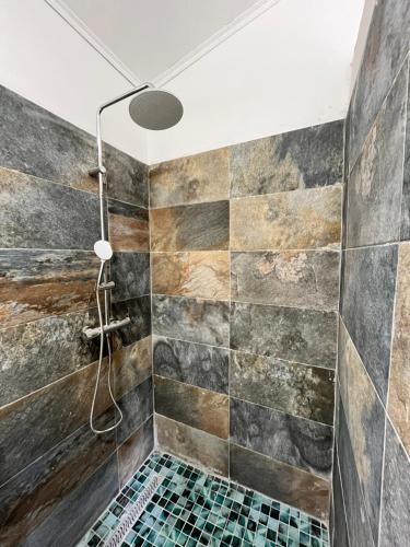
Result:
{"label": "right-hand stone-look tiled wall, seen at a steep angle", "polygon": [[409,2],[377,2],[345,124],[338,547],[410,538],[409,38]]}

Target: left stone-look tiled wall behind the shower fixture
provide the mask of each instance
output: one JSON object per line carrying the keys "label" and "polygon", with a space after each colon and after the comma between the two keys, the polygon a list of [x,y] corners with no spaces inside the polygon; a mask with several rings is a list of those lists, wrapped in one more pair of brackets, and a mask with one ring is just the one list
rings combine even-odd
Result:
{"label": "left stone-look tiled wall behind the shower fixture", "polygon": [[[94,138],[0,88],[0,544],[71,547],[153,447],[148,167],[105,147],[117,432],[89,412],[98,344]],[[96,426],[115,418],[107,363]]]}

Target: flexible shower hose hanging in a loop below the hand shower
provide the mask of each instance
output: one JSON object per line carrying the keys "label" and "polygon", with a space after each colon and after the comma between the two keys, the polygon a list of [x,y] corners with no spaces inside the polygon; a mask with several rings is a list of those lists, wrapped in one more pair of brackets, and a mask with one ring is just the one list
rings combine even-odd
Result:
{"label": "flexible shower hose hanging in a loop below the hand shower", "polygon": [[[106,333],[104,334],[104,321],[103,321],[103,312],[102,312],[102,305],[101,305],[101,300],[99,300],[99,286],[101,281],[103,278],[103,272],[104,272],[104,267],[105,267],[106,260],[102,259],[101,260],[101,266],[99,266],[99,271],[98,271],[98,278],[95,287],[95,298],[97,302],[97,310],[98,310],[98,322],[99,322],[99,358],[98,358],[98,369],[97,369],[97,377],[95,381],[95,387],[94,387],[94,395],[93,395],[93,403],[91,405],[91,411],[90,411],[90,427],[94,433],[108,433],[109,431],[113,431],[116,429],[120,422],[122,421],[122,412],[119,406],[117,405],[114,395],[113,395],[113,389],[112,389],[112,368],[113,368],[113,357],[112,357],[112,342],[110,342],[110,334]],[[104,338],[107,339],[107,348],[108,348],[108,392],[109,392],[109,397],[112,401],[114,403],[115,408],[119,412],[119,420],[117,420],[114,426],[110,426],[107,429],[96,429],[94,427],[94,408],[95,408],[95,401],[97,398],[97,393],[98,393],[98,385],[99,385],[99,379],[101,379],[101,370],[103,366],[103,354],[104,354]]]}

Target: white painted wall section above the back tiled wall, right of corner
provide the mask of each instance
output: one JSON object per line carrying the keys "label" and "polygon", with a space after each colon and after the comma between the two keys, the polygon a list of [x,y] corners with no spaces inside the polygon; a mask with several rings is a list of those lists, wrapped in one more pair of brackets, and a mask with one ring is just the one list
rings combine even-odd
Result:
{"label": "white painted wall section above the back tiled wall, right of corner", "polygon": [[282,0],[166,85],[175,128],[149,135],[155,163],[345,116],[363,0]]}

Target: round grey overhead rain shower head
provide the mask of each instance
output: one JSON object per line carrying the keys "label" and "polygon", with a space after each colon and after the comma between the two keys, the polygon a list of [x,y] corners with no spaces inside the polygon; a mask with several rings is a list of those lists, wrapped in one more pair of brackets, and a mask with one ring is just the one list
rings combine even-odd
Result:
{"label": "round grey overhead rain shower head", "polygon": [[139,126],[157,131],[175,126],[183,117],[184,107],[168,91],[148,89],[132,98],[129,113]]}

